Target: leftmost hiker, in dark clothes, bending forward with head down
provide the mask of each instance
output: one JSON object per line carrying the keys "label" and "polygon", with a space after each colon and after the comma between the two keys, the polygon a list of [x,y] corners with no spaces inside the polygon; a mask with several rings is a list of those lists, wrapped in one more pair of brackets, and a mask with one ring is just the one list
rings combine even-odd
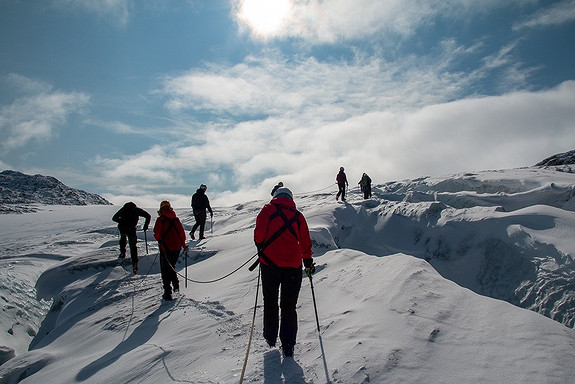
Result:
{"label": "leftmost hiker, in dark clothes, bending forward with head down", "polygon": [[126,237],[128,238],[134,274],[138,273],[138,247],[136,246],[138,239],[136,237],[136,225],[138,225],[140,217],[146,219],[142,229],[147,231],[152,217],[148,212],[138,208],[136,204],[131,201],[124,204],[112,217],[112,220],[118,223],[118,229],[120,230],[120,258],[122,259],[126,257]]}

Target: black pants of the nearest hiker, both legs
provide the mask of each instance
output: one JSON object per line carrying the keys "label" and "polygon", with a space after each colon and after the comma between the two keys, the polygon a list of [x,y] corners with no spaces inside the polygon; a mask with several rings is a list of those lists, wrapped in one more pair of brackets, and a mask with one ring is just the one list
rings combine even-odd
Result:
{"label": "black pants of the nearest hiker, both legs", "polygon": [[268,342],[275,344],[279,328],[282,346],[294,346],[297,336],[296,305],[302,281],[301,267],[278,268],[262,264],[261,272],[264,295],[264,337]]}

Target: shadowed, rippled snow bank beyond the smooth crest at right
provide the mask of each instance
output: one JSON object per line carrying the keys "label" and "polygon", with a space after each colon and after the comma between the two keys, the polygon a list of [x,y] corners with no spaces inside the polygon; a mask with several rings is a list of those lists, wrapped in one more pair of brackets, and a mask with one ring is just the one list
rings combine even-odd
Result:
{"label": "shadowed, rippled snow bank beyond the smooth crest at right", "polygon": [[389,183],[377,189],[378,205],[340,207],[333,239],[340,248],[424,258],[464,287],[573,327],[574,186],[575,174],[539,168]]}

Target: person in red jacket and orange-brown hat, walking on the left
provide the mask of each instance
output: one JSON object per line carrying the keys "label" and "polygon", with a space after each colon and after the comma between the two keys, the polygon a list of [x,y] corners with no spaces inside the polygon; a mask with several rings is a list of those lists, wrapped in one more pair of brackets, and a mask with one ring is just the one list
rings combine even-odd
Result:
{"label": "person in red jacket and orange-brown hat, walking on the left", "polygon": [[172,209],[169,201],[162,201],[159,217],[154,225],[154,238],[160,246],[160,271],[164,285],[164,300],[172,300],[172,286],[174,292],[180,290],[180,282],[176,273],[176,262],[180,256],[181,248],[186,251],[186,232]]}

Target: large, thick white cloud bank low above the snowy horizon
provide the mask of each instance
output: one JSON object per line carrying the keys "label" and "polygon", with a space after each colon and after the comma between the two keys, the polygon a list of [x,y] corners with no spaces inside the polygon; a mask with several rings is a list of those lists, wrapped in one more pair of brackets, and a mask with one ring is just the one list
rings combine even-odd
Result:
{"label": "large, thick white cloud bank low above the snowy horizon", "polygon": [[[371,110],[330,121],[286,114],[212,128],[202,143],[154,147],[106,161],[106,176],[137,175],[156,186],[185,185],[190,164],[229,189],[215,204],[267,198],[282,180],[295,193],[335,191],[346,168],[350,184],[367,172],[375,183],[424,175],[529,166],[575,142],[575,82],[539,92],[470,97],[412,109]],[[188,183],[188,189],[195,185]],[[184,201],[182,195],[181,201]]]}

